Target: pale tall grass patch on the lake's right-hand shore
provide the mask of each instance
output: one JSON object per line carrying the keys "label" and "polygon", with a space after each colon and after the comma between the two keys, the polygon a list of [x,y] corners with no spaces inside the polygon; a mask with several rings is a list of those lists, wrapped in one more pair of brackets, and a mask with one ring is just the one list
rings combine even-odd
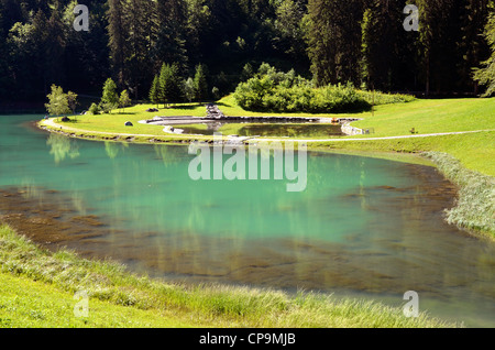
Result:
{"label": "pale tall grass patch on the lake's right-hand shore", "polygon": [[466,169],[447,153],[426,152],[425,155],[459,186],[457,205],[447,210],[447,221],[495,238],[495,178]]}

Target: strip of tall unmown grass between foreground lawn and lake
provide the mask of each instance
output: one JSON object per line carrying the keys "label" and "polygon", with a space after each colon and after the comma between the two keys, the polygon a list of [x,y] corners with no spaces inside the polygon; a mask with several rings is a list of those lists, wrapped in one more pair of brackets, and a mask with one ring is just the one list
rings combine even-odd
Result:
{"label": "strip of tall unmown grass between foreground lawn and lake", "polygon": [[[406,318],[400,307],[329,295],[222,285],[178,285],[138,276],[124,266],[48,252],[8,226],[0,226],[1,273],[26,276],[66,292],[143,310],[173,310],[211,320],[215,327],[454,327],[421,313]],[[1,296],[0,289],[0,296]]]}

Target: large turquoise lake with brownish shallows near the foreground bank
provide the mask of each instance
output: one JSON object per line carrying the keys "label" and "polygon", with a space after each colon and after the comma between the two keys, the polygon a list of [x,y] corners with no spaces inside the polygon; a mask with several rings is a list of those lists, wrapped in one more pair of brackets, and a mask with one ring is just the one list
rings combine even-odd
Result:
{"label": "large turquoise lake with brownish shallows near the foreground bank", "polygon": [[[286,181],[193,181],[186,146],[72,140],[0,117],[0,219],[47,247],[184,282],[315,289],[495,326],[495,244],[443,221],[435,168],[310,153]],[[228,156],[226,156],[228,157]]]}

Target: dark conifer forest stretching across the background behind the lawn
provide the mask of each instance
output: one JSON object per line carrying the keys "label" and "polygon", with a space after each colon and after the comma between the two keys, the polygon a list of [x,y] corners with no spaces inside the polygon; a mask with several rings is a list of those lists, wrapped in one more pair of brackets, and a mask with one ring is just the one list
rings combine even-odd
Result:
{"label": "dark conifer forest stretching across the background behind the lawn", "polygon": [[[74,29],[78,3],[88,31]],[[419,10],[418,31],[403,25],[407,3]],[[185,80],[202,67],[211,98],[263,63],[320,87],[477,96],[493,81],[493,67],[492,78],[481,73],[495,65],[494,9],[493,0],[0,0],[0,105],[43,103],[54,84],[101,97],[109,77],[148,100],[164,65]]]}

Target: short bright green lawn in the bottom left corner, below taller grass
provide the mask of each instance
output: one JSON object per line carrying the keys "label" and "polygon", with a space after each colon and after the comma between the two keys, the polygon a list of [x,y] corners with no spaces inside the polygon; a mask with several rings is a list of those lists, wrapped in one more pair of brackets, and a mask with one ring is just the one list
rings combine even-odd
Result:
{"label": "short bright green lawn in the bottom left corner, below taller grass", "polygon": [[80,298],[54,285],[25,276],[0,273],[0,328],[144,328],[201,327],[166,310],[142,310],[91,298],[88,317],[76,317]]}

